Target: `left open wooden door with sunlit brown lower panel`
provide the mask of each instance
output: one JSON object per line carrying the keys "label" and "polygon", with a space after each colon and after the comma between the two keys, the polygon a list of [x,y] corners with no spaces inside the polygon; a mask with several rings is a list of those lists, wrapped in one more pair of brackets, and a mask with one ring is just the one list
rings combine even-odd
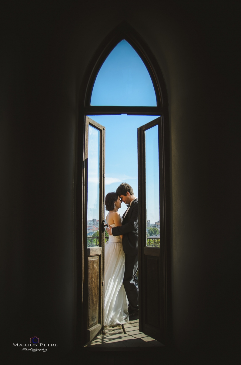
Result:
{"label": "left open wooden door with sunlit brown lower panel", "polygon": [[83,342],[104,324],[104,169],[105,127],[86,117],[84,158]]}

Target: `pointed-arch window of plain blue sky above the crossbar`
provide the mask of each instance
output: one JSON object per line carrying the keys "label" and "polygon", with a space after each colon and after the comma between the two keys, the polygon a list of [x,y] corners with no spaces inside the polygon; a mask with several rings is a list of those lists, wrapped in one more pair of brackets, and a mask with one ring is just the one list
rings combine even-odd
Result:
{"label": "pointed-arch window of plain blue sky above the crossbar", "polygon": [[149,72],[125,39],[115,46],[101,66],[90,104],[157,106]]}

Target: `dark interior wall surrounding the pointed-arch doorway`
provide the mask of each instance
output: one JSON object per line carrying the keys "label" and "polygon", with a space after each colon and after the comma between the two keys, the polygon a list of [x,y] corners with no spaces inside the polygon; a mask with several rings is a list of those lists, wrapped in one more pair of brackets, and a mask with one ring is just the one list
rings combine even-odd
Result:
{"label": "dark interior wall surrounding the pointed-arch doorway", "polygon": [[186,353],[220,349],[224,339],[231,346],[238,313],[235,7],[25,1],[8,3],[4,14],[0,201],[6,346],[14,333],[10,346],[37,334],[58,342],[58,351],[72,347],[78,95],[96,48],[123,20],[157,58],[169,99],[174,345]]}

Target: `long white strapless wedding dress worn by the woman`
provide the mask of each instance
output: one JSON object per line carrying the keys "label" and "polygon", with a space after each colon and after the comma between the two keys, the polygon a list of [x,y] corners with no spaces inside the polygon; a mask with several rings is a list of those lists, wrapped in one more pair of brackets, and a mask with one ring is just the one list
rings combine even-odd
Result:
{"label": "long white strapless wedding dress worn by the woman", "polygon": [[[115,227],[115,224],[109,226]],[[110,235],[105,244],[104,269],[104,325],[126,323],[129,321],[129,313],[123,285],[125,253],[120,236]]]}

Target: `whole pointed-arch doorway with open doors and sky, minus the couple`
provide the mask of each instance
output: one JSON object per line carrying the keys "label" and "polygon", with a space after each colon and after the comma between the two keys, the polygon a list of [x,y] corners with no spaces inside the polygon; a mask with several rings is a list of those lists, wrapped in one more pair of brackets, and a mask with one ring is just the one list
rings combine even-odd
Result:
{"label": "whole pointed-arch doorway with open doors and sky, minus the couple", "polygon": [[[166,260],[170,255],[166,245],[167,96],[159,65],[126,24],[106,38],[90,62],[81,110],[84,152],[79,181],[83,182],[83,200],[77,208],[77,220],[82,219],[81,342],[90,343],[104,331],[104,252],[108,239],[104,198],[126,182],[138,197],[139,331],[165,345],[169,303]],[[120,215],[125,208],[120,209]]]}

